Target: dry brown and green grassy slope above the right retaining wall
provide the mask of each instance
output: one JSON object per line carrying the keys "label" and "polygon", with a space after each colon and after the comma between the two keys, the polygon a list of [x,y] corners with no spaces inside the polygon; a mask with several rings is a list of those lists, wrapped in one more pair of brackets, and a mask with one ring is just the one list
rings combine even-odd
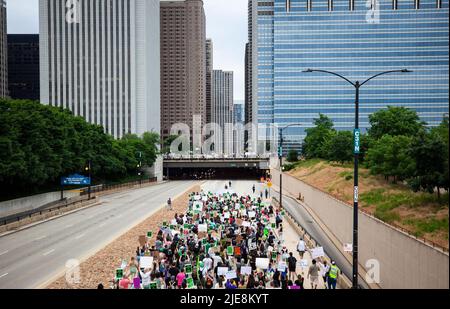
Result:
{"label": "dry brown and green grassy slope above the right retaining wall", "polygon": [[[353,204],[353,165],[308,160],[297,163],[288,174]],[[438,200],[437,194],[414,193],[406,185],[387,182],[364,168],[359,175],[362,211],[448,249],[448,193]]]}

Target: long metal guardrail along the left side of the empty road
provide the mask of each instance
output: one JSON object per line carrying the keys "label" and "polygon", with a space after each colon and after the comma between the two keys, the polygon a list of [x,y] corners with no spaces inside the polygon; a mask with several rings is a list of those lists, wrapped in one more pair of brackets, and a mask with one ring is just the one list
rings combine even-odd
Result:
{"label": "long metal guardrail along the left side of the empty road", "polygon": [[[127,183],[118,184],[118,185],[92,186],[90,200],[94,200],[97,193],[111,191],[111,190],[117,190],[117,189],[122,189],[122,188],[130,188],[130,187],[134,187],[134,186],[138,186],[138,185],[142,185],[142,184],[155,183],[156,181],[157,181],[157,178],[150,178],[150,179],[143,179],[142,181],[133,181],[133,182],[127,182]],[[23,219],[32,218],[33,216],[36,216],[38,214],[42,215],[45,213],[50,213],[55,210],[60,210],[60,209],[67,208],[67,207],[70,207],[70,206],[73,206],[73,205],[76,205],[79,203],[89,201],[89,199],[86,197],[89,194],[88,188],[82,188],[80,190],[81,190],[81,193],[80,193],[81,198],[77,198],[76,200],[73,200],[73,201],[70,201],[70,199],[65,198],[63,200],[49,203],[49,204],[39,207],[37,209],[24,211],[24,212],[21,212],[18,214],[0,218],[0,226],[4,226],[4,225],[14,223],[14,222],[19,222]],[[72,198],[72,199],[74,199],[74,198]]]}

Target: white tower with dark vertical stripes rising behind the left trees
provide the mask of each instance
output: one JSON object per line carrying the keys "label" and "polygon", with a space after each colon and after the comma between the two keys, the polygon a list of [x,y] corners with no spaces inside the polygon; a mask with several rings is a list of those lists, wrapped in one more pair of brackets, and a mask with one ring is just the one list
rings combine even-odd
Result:
{"label": "white tower with dark vertical stripes rising behind the left trees", "polygon": [[159,132],[159,1],[40,0],[39,9],[41,102],[117,138]]}

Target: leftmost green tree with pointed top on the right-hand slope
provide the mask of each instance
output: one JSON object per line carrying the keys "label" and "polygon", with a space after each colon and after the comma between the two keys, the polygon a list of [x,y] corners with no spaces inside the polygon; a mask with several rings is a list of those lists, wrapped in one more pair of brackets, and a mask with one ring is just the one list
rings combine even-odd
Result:
{"label": "leftmost green tree with pointed top on the right-hand slope", "polygon": [[327,158],[326,143],[335,133],[333,121],[323,114],[314,120],[315,127],[306,129],[306,138],[303,142],[303,155],[307,159]]}

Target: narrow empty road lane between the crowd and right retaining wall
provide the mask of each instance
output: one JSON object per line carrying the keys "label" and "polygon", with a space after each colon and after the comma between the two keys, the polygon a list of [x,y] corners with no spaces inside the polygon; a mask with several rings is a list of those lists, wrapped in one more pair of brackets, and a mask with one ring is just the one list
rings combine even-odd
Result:
{"label": "narrow empty road lane between the crowd and right retaining wall", "polygon": [[[274,190],[275,191],[275,190]],[[279,198],[279,191],[275,191]],[[341,271],[351,280],[352,278],[352,264],[345,258],[334,243],[328,238],[322,228],[315,222],[314,218],[308,213],[308,211],[295,199],[290,196],[283,194],[283,206],[289,211],[289,213],[296,219],[296,221],[301,225],[301,227],[314,238],[314,240],[323,247],[325,254],[332,260],[336,261],[336,265],[341,269]],[[359,284],[363,288],[369,288],[369,286],[364,282],[361,275],[359,276]]]}

